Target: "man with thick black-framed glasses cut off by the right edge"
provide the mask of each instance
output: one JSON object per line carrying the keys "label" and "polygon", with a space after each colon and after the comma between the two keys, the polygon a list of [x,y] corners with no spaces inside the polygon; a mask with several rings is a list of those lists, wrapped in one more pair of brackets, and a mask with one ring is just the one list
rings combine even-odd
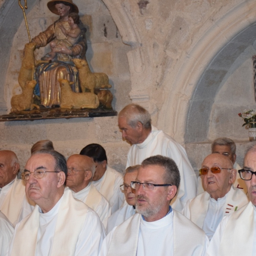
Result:
{"label": "man with thick black-framed glasses cut off by the right edge", "polygon": [[239,175],[245,181],[250,202],[223,218],[207,250],[209,256],[256,255],[256,143],[248,146]]}

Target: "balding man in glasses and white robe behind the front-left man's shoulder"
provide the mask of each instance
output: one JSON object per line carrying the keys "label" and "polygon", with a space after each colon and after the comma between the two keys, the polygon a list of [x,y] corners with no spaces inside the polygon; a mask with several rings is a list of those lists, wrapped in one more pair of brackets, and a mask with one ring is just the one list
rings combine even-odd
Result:
{"label": "balding man in glasses and white robe behind the front-left man's shoulder", "polygon": [[73,154],[67,160],[66,186],[71,189],[74,198],[84,202],[99,215],[106,227],[111,207],[107,199],[91,183],[94,173],[95,163],[91,157]]}

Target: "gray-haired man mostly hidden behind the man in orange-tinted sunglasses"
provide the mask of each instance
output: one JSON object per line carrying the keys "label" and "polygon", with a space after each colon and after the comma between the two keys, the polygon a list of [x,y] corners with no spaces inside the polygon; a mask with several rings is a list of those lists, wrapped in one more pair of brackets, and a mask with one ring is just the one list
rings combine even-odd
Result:
{"label": "gray-haired man mostly hidden behind the man in orange-tinted sunglasses", "polygon": [[[240,170],[241,167],[238,163],[236,163],[236,143],[226,137],[217,138],[212,142],[212,153],[222,154],[230,159],[230,161],[233,163],[233,168],[237,171],[236,180],[234,181],[233,186],[243,191],[244,194],[247,194],[247,188],[244,180],[240,178],[238,173],[238,170]],[[202,180],[199,177],[197,192],[198,195],[204,192],[204,190],[205,188],[203,187]]]}

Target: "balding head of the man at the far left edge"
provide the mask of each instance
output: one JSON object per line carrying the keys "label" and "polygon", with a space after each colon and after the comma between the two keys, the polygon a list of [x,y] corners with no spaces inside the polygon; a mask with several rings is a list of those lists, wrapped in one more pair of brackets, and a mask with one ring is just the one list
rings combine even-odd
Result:
{"label": "balding head of the man at the far left edge", "polygon": [[20,165],[18,158],[13,151],[0,151],[0,188],[9,184],[15,179]]}

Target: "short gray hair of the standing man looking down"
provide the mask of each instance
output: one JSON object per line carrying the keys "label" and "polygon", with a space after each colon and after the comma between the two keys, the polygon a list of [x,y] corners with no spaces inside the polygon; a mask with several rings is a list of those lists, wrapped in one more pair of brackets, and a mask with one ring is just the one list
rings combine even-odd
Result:
{"label": "short gray hair of the standing man looking down", "polygon": [[151,116],[145,108],[137,104],[125,106],[118,114],[118,117],[125,117],[127,124],[135,128],[138,122],[141,122],[143,128],[151,129]]}

